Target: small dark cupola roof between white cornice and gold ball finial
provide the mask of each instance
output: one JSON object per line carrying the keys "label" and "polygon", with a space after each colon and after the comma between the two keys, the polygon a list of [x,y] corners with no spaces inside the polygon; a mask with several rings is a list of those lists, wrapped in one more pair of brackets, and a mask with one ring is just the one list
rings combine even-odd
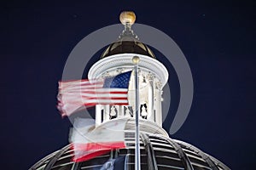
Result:
{"label": "small dark cupola roof between white cornice and gold ball finial", "polygon": [[113,42],[103,52],[101,59],[113,54],[143,54],[155,59],[154,53],[147,45],[137,40],[125,40],[122,38],[117,42]]}

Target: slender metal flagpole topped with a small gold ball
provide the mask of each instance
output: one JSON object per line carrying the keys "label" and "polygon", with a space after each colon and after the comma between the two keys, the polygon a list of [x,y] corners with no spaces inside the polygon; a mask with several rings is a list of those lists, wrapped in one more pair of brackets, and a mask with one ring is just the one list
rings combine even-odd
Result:
{"label": "slender metal flagpole topped with a small gold ball", "polygon": [[135,170],[141,170],[141,160],[140,160],[140,137],[139,137],[139,87],[138,87],[138,76],[137,76],[137,64],[140,61],[140,58],[137,56],[134,56],[132,58],[132,62],[134,64],[134,82],[135,82]]}

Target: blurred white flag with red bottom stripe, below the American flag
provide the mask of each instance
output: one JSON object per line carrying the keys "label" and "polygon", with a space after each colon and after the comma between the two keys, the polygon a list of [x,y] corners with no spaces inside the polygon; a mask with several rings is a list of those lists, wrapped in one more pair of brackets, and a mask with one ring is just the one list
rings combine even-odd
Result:
{"label": "blurred white flag with red bottom stripe, below the American flag", "polygon": [[87,161],[110,150],[125,148],[126,122],[117,120],[95,127],[93,119],[77,118],[70,133],[73,161]]}

